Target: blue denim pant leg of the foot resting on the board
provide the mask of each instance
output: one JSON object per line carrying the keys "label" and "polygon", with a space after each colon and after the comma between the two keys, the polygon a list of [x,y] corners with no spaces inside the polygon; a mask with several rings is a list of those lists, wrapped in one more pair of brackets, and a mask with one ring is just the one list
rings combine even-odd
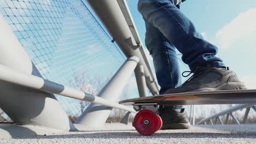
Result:
{"label": "blue denim pant leg of the foot resting on the board", "polygon": [[183,62],[192,71],[197,66],[224,66],[222,59],[216,57],[218,48],[203,40],[193,23],[171,0],[139,0],[138,10],[182,53]]}

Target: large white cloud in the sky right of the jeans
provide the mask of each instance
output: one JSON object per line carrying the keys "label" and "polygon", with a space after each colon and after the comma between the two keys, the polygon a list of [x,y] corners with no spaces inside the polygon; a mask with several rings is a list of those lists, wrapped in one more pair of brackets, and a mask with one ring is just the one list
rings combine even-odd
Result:
{"label": "large white cloud in the sky right of the jeans", "polygon": [[248,89],[255,89],[256,76],[253,74],[256,52],[256,8],[240,13],[216,33],[218,47],[224,51],[225,63],[237,71]]}

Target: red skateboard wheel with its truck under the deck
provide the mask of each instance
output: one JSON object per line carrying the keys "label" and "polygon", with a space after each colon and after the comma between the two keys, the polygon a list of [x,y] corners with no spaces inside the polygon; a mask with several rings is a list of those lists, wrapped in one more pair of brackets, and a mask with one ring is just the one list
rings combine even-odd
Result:
{"label": "red skateboard wheel with its truck under the deck", "polygon": [[153,135],[162,127],[162,119],[157,114],[158,105],[156,103],[134,104],[133,108],[139,111],[133,119],[132,126],[139,134],[144,136]]}

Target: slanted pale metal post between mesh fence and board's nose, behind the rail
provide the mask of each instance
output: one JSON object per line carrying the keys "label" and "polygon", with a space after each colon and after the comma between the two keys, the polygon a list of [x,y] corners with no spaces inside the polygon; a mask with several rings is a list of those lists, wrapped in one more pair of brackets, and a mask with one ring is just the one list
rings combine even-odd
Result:
{"label": "slanted pale metal post between mesh fence and board's nose, behind the rail", "polygon": [[[138,57],[127,59],[98,96],[109,101],[118,102],[118,97],[130,80],[138,62]],[[90,104],[75,123],[90,125],[90,127],[100,127],[106,122],[111,111],[112,107]]]}

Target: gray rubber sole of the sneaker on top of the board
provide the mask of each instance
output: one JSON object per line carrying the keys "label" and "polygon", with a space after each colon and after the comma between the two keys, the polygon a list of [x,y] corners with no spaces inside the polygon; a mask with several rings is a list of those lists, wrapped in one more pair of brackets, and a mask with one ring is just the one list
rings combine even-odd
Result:
{"label": "gray rubber sole of the sneaker on top of the board", "polygon": [[222,91],[222,90],[237,90],[237,89],[247,89],[243,82],[225,82],[218,87],[211,88],[211,87],[203,87],[199,89],[195,89],[189,92],[202,92],[202,91]]}

